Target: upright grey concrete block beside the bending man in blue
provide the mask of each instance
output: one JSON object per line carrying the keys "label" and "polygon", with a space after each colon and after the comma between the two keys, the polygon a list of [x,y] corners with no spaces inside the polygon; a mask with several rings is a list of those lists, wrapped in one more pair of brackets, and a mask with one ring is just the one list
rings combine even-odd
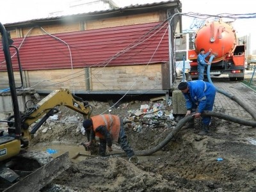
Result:
{"label": "upright grey concrete block beside the bending man in blue", "polygon": [[180,92],[180,90],[173,90],[172,106],[173,106],[173,114],[185,115],[187,113],[186,100],[182,92]]}

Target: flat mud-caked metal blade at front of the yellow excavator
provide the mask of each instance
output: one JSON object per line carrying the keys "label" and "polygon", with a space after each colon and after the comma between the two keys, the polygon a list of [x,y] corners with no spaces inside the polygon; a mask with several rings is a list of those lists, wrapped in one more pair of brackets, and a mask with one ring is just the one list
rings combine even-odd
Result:
{"label": "flat mud-caked metal blade at front of the yellow excavator", "polygon": [[65,152],[26,177],[20,179],[18,182],[15,182],[15,184],[9,188],[4,189],[3,192],[40,191],[40,189],[44,188],[53,179],[58,177],[60,173],[67,170],[69,166],[70,160],[68,158],[68,152]]}

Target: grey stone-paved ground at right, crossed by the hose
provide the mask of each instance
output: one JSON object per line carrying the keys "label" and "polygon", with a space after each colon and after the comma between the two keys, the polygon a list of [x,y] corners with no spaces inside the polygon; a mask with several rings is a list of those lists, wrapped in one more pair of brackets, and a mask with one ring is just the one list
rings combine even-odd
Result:
{"label": "grey stone-paved ground at right, crossed by the hose", "polygon": [[[248,86],[241,82],[213,82],[216,88],[229,93],[230,95],[236,96],[238,99],[242,100],[244,104],[255,109],[256,113],[256,92],[250,89]],[[237,118],[242,118],[244,120],[253,120],[252,115],[248,113],[244,108],[242,108],[236,101],[230,99],[223,93],[216,93],[214,102],[214,111],[227,114],[229,116],[234,116]],[[254,121],[254,120],[253,120]]]}

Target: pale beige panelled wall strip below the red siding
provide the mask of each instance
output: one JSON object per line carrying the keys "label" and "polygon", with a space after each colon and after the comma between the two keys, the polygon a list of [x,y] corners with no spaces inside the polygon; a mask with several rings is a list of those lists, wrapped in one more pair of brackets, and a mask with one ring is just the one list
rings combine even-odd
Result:
{"label": "pale beige panelled wall strip below the red siding", "polygon": [[[162,67],[163,64],[31,70],[23,72],[23,79],[25,88],[42,91],[60,88],[79,90],[81,93],[102,90],[162,90]],[[16,86],[20,86],[19,72],[14,75]],[[0,72],[0,76],[1,90],[8,88],[6,72]]]}

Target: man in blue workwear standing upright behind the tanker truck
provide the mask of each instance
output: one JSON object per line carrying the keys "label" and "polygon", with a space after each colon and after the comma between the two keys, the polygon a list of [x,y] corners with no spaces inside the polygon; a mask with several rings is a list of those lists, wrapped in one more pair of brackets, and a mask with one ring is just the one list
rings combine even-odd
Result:
{"label": "man in blue workwear standing upright behind the tanker truck", "polygon": [[209,49],[207,53],[205,53],[205,49],[200,49],[200,53],[197,56],[197,69],[198,69],[198,80],[204,80],[204,69],[206,65],[211,65],[211,63],[206,63],[205,58],[209,56],[209,54],[212,52],[212,49]]}

